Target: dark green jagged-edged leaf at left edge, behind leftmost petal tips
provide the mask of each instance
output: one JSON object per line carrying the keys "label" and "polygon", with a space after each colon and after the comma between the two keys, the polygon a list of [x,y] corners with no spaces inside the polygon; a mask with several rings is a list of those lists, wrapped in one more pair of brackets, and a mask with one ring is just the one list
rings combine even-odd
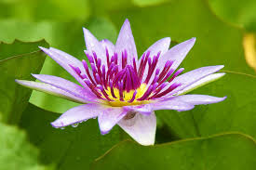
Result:
{"label": "dark green jagged-edged leaf at left edge, behind leftmost petal tips", "polygon": [[41,71],[46,55],[37,46],[47,46],[45,40],[0,44],[0,113],[7,123],[17,123],[32,90],[21,87],[15,79],[34,80],[31,73]]}

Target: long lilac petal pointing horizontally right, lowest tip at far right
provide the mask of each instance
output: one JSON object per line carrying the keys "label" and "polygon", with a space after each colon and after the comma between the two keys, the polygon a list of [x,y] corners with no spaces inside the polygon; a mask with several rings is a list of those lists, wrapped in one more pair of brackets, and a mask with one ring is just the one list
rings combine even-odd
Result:
{"label": "long lilac petal pointing horizontally right, lowest tip at far right", "polygon": [[199,105],[199,104],[218,103],[223,101],[226,97],[217,98],[217,97],[211,97],[208,95],[182,95],[174,98],[175,100],[180,100],[182,102],[186,102],[189,104]]}

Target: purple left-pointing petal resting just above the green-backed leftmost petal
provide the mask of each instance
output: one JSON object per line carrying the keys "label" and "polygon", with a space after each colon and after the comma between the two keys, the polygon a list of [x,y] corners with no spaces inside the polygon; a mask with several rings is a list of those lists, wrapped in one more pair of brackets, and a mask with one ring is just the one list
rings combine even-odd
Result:
{"label": "purple left-pointing petal resting just above the green-backed leftmost petal", "polygon": [[46,74],[32,74],[36,79],[43,83],[61,88],[77,98],[83,98],[87,102],[97,102],[98,98],[91,93],[89,89],[83,88],[80,85],[76,85],[73,82],[65,80],[61,77],[46,75]]}

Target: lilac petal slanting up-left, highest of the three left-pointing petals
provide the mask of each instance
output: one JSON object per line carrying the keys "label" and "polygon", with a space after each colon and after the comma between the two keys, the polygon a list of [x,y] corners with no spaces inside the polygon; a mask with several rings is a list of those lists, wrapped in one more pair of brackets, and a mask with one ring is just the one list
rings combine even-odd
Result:
{"label": "lilac petal slanting up-left, highest of the three left-pointing petals", "polygon": [[54,59],[58,64],[61,65],[63,69],[65,69],[67,72],[69,72],[81,85],[83,85],[85,88],[88,88],[88,85],[77,75],[76,72],[70,67],[70,65],[74,67],[78,67],[82,73],[85,72],[85,69],[83,67],[83,63],[75,59],[73,56],[55,48],[45,48],[39,46],[40,49],[42,49],[51,59]]}

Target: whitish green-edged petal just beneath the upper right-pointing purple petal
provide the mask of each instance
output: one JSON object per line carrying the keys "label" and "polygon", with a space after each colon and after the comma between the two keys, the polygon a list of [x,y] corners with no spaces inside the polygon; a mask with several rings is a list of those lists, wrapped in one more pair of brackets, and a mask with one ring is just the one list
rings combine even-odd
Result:
{"label": "whitish green-edged petal just beneath the upper right-pointing purple petal", "polygon": [[186,88],[184,88],[183,90],[179,91],[177,93],[177,95],[184,95],[186,93],[189,93],[193,90],[195,90],[196,88],[199,88],[200,86],[203,86],[203,85],[207,85],[211,82],[214,82],[216,80],[219,80],[220,78],[222,78],[222,76],[224,76],[225,73],[224,72],[219,72],[219,73],[212,73],[212,74],[209,74],[208,76],[198,80],[197,82],[195,82],[194,84],[192,85],[189,85],[187,86]]}

